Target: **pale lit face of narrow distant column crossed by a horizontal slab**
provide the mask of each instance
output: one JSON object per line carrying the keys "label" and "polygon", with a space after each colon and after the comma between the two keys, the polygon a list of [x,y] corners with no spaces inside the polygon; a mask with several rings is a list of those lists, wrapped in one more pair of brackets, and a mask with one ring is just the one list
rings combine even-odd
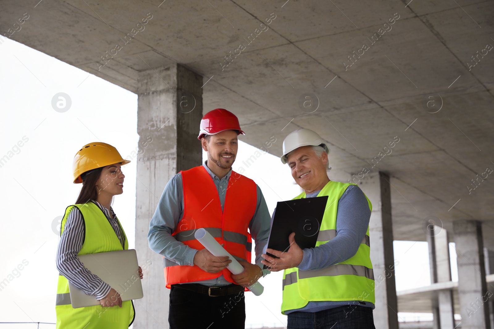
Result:
{"label": "pale lit face of narrow distant column crossed by a horizontal slab", "polygon": [[[450,246],[448,232],[435,226],[434,245],[436,250],[437,282],[451,281]],[[453,291],[442,290],[438,292],[439,319],[443,329],[454,328]]]}

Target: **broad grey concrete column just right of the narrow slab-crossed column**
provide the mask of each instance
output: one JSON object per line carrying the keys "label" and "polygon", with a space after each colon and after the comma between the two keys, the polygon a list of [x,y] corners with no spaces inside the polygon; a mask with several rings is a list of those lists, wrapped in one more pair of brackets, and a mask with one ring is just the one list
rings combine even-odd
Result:
{"label": "broad grey concrete column just right of the narrow slab-crossed column", "polygon": [[458,264],[458,295],[462,329],[490,329],[482,225],[477,220],[453,221]]}

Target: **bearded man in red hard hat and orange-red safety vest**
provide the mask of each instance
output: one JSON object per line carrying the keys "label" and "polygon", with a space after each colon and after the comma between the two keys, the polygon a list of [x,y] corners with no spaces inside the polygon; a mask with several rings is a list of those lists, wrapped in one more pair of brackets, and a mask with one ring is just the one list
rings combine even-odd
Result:
{"label": "bearded man in red hard hat and orange-red safety vest", "polygon": [[[207,152],[202,166],[181,171],[166,184],[149,224],[149,247],[163,256],[170,288],[168,322],[176,328],[245,328],[244,287],[262,270],[271,217],[254,181],[232,171],[240,128],[225,109],[206,113],[198,139]],[[231,260],[211,255],[194,237],[205,228],[244,266],[228,271]],[[255,240],[255,264],[250,263]]]}

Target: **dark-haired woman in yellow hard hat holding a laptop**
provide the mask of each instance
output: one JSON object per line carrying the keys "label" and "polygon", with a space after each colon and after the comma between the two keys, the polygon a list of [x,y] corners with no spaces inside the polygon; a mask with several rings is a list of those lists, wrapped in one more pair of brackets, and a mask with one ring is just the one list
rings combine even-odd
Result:
{"label": "dark-haired woman in yellow hard hat holding a laptop", "polygon": [[[58,276],[56,328],[128,328],[134,320],[131,300],[122,301],[118,292],[87,270],[78,255],[128,249],[128,241],[113,212],[113,197],[124,192],[121,166],[129,163],[117,149],[106,143],[83,146],[74,157],[74,183],[82,183],[75,204],[62,219],[57,249]],[[142,279],[139,266],[138,274]],[[69,281],[100,305],[73,308]]]}

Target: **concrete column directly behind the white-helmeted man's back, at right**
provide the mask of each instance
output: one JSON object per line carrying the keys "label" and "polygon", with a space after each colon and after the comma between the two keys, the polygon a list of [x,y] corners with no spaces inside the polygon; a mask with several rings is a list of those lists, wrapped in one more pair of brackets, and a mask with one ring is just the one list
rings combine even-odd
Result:
{"label": "concrete column directly behind the white-helmeted man's back, at right", "polygon": [[375,328],[398,329],[389,176],[383,172],[368,174],[359,186],[372,203],[369,234],[375,282]]}

